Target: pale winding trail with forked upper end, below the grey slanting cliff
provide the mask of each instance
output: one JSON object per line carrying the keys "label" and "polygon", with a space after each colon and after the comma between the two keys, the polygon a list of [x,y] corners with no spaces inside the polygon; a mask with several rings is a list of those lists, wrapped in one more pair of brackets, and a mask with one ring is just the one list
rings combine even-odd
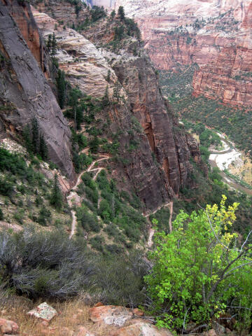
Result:
{"label": "pale winding trail with forked upper end, below the grey slanting cliff", "polygon": [[[83,149],[83,151],[80,151],[80,153],[87,153],[87,151],[89,150],[89,148],[85,148]],[[100,155],[102,156],[102,158],[99,158],[98,160],[95,160],[94,162],[91,163],[91,165],[83,170],[83,172],[81,172],[79,175],[78,175],[78,179],[75,183],[75,185],[73,186],[73,188],[71,188],[71,191],[69,193],[69,195],[66,197],[66,200],[67,200],[67,203],[69,204],[69,207],[72,207],[72,200],[78,198],[78,194],[76,193],[76,190],[78,188],[78,185],[82,182],[81,180],[81,176],[83,176],[83,174],[85,172],[96,172],[96,174],[93,176],[93,180],[95,180],[99,174],[99,172],[102,171],[102,169],[104,169],[104,167],[98,167],[98,168],[94,168],[94,165],[97,163],[97,162],[100,162],[100,161],[103,161],[103,160],[108,160],[109,159],[109,156],[108,155]],[[71,239],[74,235],[74,233],[76,232],[76,223],[77,223],[77,217],[76,217],[76,211],[74,210],[71,210],[71,216],[72,216],[72,222],[71,222],[71,232],[70,232],[70,235],[69,235],[69,239]]]}

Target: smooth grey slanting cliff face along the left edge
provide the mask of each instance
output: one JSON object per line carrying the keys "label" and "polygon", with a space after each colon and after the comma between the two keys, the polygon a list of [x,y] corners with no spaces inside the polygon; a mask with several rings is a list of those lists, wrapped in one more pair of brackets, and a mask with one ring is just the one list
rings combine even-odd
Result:
{"label": "smooth grey slanting cliff face along the left edge", "polygon": [[[14,11],[15,15],[12,16]],[[3,132],[17,138],[31,118],[36,117],[48,145],[50,159],[73,180],[71,133],[38,65],[43,62],[43,55],[39,53],[41,40],[36,24],[33,22],[29,28],[29,20],[22,21],[24,13],[32,17],[29,8],[22,8],[14,1],[0,4],[0,123],[3,125]],[[23,31],[25,27],[28,28],[25,36],[29,40],[31,33],[31,41],[26,43],[13,17],[18,17],[18,26],[22,27]],[[38,62],[28,48],[33,42],[34,48],[31,50],[34,51]]]}

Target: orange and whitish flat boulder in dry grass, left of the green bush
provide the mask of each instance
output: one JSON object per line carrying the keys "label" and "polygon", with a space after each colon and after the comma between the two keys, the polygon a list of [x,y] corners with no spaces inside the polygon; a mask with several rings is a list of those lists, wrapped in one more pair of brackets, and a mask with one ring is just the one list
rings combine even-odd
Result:
{"label": "orange and whitish flat boulder in dry grass, left of the green bush", "polygon": [[99,306],[90,309],[90,319],[93,322],[104,322],[108,325],[121,327],[132,318],[130,309],[121,306]]}

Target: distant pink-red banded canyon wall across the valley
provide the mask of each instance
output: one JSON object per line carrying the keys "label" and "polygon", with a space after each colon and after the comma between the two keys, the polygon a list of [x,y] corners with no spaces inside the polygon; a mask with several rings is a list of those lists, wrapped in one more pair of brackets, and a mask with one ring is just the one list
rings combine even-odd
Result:
{"label": "distant pink-red banded canyon wall across the valley", "polygon": [[117,0],[115,6],[137,20],[158,69],[197,63],[195,95],[251,106],[251,0]]}

